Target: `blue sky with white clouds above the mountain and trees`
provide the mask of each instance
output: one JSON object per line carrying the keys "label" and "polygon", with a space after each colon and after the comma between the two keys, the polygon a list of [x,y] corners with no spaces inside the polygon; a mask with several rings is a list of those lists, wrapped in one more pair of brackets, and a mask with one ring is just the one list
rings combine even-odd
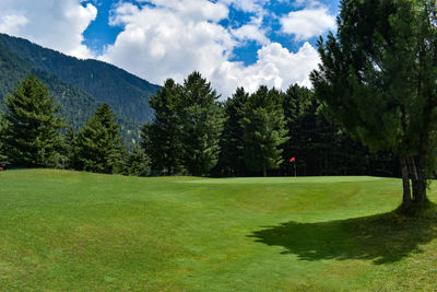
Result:
{"label": "blue sky with white clouds above the mountain and trees", "polygon": [[200,71],[225,98],[238,86],[310,86],[338,10],[339,0],[1,0],[0,32],[161,85]]}

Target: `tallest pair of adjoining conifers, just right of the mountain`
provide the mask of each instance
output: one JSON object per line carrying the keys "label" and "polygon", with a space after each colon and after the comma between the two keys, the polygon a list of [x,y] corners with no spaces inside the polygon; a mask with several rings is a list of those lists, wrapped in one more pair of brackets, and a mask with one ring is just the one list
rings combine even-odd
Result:
{"label": "tallest pair of adjoining conifers, just right of the mountain", "polygon": [[217,94],[200,73],[191,73],[184,85],[167,80],[151,100],[153,122],[142,128],[143,147],[160,174],[188,172],[208,175],[216,165],[223,110]]}

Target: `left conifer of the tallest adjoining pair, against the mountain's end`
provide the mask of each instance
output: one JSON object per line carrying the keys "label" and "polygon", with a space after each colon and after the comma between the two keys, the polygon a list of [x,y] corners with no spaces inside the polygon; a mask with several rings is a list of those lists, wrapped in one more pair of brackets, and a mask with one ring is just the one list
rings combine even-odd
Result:
{"label": "left conifer of the tallest adjoining pair, against the mountain's end", "polygon": [[181,156],[181,86],[168,79],[150,106],[155,110],[153,122],[141,129],[142,147],[152,160],[152,168],[158,173],[176,174],[182,170]]}

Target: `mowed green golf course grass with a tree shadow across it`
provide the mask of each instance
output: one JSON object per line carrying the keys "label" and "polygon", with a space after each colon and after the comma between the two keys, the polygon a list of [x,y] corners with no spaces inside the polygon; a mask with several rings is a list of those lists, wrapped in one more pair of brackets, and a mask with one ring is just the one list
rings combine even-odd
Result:
{"label": "mowed green golf course grass with a tree shadow across it", "polygon": [[2,172],[0,291],[436,291],[436,210],[392,213],[401,191],[375,177]]}

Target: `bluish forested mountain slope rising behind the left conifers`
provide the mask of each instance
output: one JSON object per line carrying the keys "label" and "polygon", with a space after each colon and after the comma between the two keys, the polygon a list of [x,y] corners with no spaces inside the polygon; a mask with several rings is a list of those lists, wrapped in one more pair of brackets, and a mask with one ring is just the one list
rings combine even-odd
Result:
{"label": "bluish forested mountain slope rising behind the left conifers", "polygon": [[49,85],[61,114],[75,128],[101,103],[107,103],[130,142],[137,140],[140,126],[153,117],[149,101],[160,86],[113,65],[80,60],[5,34],[0,34],[0,96],[12,92],[16,82],[32,72]]}

